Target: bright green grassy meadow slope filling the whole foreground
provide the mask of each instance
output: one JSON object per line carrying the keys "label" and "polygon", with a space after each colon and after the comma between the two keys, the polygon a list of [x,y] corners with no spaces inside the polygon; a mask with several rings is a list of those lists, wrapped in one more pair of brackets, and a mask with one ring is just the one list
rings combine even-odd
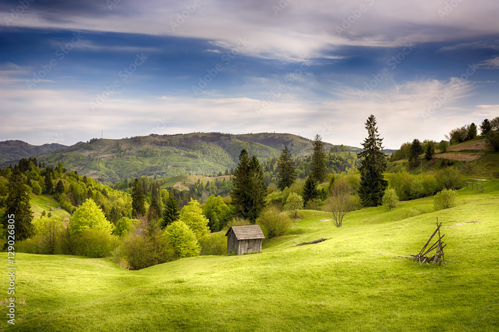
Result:
{"label": "bright green grassy meadow slope filling the whole foreground", "polygon": [[[499,181],[433,200],[347,214],[302,211],[262,253],[202,256],[126,271],[110,259],[18,254],[12,331],[493,331],[499,326]],[[443,222],[447,267],[417,253]],[[449,227],[466,221],[466,223]],[[309,246],[294,242],[328,237]],[[2,253],[2,259],[6,254]],[[414,274],[414,273],[429,274]],[[399,273],[399,274],[390,274]],[[404,274],[410,273],[410,274]],[[5,274],[1,283],[7,284]],[[5,327],[5,320],[1,327]]]}

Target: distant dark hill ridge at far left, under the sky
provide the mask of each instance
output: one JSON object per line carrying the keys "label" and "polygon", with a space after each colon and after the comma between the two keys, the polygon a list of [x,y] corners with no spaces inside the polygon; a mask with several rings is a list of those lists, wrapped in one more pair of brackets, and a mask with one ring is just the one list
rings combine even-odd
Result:
{"label": "distant dark hill ridge at far left, under the sky", "polygon": [[57,143],[31,145],[19,140],[3,141],[0,142],[0,163],[18,161],[22,158],[29,158],[42,153],[64,148],[67,148],[67,146]]}

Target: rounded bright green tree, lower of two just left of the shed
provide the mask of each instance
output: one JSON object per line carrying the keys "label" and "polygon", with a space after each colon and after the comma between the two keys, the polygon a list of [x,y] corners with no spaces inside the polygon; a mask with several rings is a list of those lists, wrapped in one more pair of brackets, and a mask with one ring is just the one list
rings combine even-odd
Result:
{"label": "rounded bright green tree, lower of two just left of the shed", "polygon": [[[203,243],[208,240],[208,236],[209,234]],[[201,251],[198,236],[191,226],[182,221],[182,217],[179,221],[174,221],[165,228],[165,237],[173,248],[177,259],[197,256]]]}

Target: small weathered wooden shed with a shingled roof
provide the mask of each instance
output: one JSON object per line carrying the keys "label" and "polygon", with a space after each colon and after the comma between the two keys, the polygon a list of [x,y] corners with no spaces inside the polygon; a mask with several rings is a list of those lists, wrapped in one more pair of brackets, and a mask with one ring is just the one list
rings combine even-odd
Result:
{"label": "small weathered wooden shed with a shingled roof", "polygon": [[232,226],[227,233],[227,253],[238,255],[261,251],[261,239],[265,238],[259,225]]}

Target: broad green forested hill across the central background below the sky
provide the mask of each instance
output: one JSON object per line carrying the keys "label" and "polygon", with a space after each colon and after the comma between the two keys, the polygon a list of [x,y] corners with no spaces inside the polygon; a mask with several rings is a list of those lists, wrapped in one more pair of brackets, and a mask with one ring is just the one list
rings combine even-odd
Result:
{"label": "broad green forested hill across the central background below the sky", "polygon": [[[47,166],[63,163],[80,175],[117,182],[139,176],[172,177],[182,174],[213,175],[236,167],[242,149],[260,162],[278,157],[288,146],[293,157],[312,152],[311,140],[292,134],[189,133],[137,136],[124,139],[91,139],[86,143],[37,155]],[[326,143],[326,149],[359,151]],[[3,164],[3,167],[8,166]]]}

